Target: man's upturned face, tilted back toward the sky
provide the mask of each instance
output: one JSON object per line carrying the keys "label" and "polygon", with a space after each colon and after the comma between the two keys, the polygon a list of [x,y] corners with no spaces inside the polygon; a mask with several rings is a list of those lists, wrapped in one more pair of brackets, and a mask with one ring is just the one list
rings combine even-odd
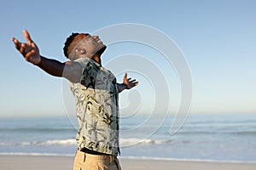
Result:
{"label": "man's upturned face, tilted back toward the sky", "polygon": [[98,36],[80,34],[78,35],[78,38],[80,41],[78,42],[78,45],[75,49],[79,50],[81,54],[86,54],[86,57],[88,58],[92,58],[93,55],[101,51],[102,48],[106,48],[106,45]]}

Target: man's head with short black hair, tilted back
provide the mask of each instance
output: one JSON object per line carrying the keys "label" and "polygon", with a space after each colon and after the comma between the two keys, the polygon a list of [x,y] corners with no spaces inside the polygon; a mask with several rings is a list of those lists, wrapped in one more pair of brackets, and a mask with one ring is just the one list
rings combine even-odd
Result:
{"label": "man's head with short black hair, tilted back", "polygon": [[68,59],[74,60],[82,57],[100,57],[106,49],[106,45],[98,36],[90,36],[85,33],[73,33],[67,37],[63,48],[64,54]]}

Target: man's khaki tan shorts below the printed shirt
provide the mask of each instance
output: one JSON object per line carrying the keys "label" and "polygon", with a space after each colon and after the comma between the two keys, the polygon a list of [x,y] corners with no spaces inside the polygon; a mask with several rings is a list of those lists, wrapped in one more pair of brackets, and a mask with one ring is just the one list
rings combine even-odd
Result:
{"label": "man's khaki tan shorts below the printed shirt", "polygon": [[91,155],[77,150],[73,170],[121,170],[117,156]]}

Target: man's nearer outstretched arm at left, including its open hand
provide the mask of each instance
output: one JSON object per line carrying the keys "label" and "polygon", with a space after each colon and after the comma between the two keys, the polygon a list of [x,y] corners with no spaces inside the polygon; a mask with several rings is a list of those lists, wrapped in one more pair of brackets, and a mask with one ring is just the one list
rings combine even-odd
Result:
{"label": "man's nearer outstretched arm at left, including its open hand", "polygon": [[32,41],[28,31],[23,31],[26,42],[19,42],[16,38],[12,38],[15,48],[23,55],[26,61],[33,65],[38,65],[42,70],[55,77],[66,77],[71,82],[79,82],[81,77],[82,66],[77,62],[67,61],[61,63],[55,59],[47,59],[40,55],[39,48]]}

